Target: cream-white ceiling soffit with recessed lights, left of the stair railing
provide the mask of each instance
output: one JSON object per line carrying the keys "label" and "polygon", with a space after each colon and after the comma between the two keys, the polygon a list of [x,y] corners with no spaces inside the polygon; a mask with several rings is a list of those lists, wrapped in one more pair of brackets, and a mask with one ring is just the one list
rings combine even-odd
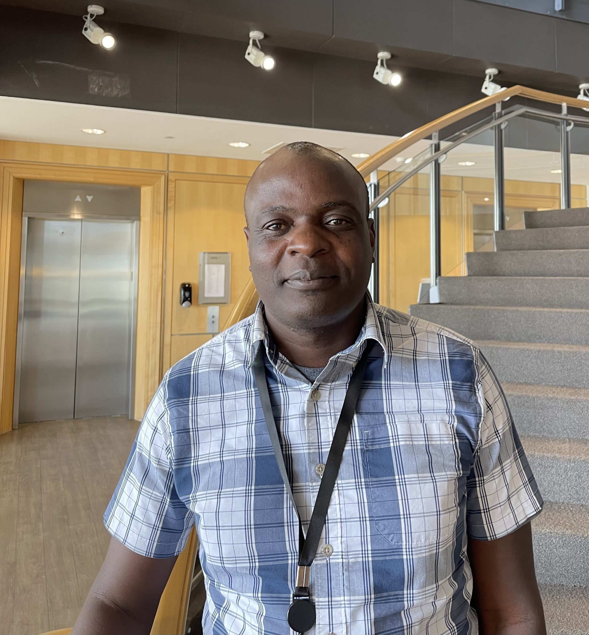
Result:
{"label": "cream-white ceiling soffit with recessed lights, left of the stair railing", "polygon": [[[106,132],[88,135],[82,128]],[[312,141],[357,165],[362,159],[352,154],[373,154],[397,137],[0,97],[0,138],[258,161],[281,145]],[[249,147],[230,147],[232,142],[246,142]]]}

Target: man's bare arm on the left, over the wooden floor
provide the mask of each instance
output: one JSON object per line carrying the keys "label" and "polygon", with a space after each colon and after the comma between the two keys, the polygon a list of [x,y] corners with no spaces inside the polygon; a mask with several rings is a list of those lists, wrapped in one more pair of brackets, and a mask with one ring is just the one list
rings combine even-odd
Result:
{"label": "man's bare arm on the left, over the wooden floor", "polygon": [[72,635],[149,635],[174,558],[145,558],[111,538]]}

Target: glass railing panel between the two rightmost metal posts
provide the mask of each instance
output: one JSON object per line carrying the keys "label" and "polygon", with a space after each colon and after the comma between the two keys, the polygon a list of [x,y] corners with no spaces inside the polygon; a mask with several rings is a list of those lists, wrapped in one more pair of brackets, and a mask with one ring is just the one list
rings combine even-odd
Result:
{"label": "glass railing panel between the two rightmost metal posts", "polygon": [[524,211],[560,208],[560,122],[515,117],[505,128],[505,227]]}

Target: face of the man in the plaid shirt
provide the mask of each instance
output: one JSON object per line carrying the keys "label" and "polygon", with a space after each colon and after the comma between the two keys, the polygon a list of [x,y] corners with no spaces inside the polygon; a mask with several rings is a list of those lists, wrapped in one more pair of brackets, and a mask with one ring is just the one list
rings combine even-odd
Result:
{"label": "face of the man in the plaid shirt", "polygon": [[362,301],[374,251],[364,187],[343,162],[285,151],[248,188],[250,269],[282,324],[336,324]]}

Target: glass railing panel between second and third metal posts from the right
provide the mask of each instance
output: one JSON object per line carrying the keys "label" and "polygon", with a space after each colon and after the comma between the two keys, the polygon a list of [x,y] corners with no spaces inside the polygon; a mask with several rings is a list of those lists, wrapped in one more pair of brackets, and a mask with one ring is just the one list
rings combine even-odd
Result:
{"label": "glass railing panel between second and third metal posts from the right", "polygon": [[465,276],[467,251],[493,250],[494,156],[493,130],[486,130],[440,164],[442,276]]}

